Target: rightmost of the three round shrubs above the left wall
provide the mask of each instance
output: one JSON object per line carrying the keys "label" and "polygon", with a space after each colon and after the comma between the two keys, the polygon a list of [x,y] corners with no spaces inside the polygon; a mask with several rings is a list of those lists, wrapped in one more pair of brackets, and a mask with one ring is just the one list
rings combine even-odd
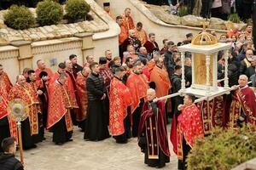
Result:
{"label": "rightmost of the three round shrubs above the left wall", "polygon": [[86,19],[86,14],[90,12],[90,5],[84,0],[67,0],[65,9],[67,12],[65,18],[74,22]]}

